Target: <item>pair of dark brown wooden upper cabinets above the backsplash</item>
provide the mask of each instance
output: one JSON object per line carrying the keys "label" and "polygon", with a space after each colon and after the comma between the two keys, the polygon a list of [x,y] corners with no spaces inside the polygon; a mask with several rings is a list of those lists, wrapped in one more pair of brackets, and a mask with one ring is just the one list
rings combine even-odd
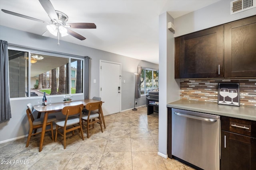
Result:
{"label": "pair of dark brown wooden upper cabinets above the backsplash", "polygon": [[175,38],[175,78],[256,77],[256,15]]}

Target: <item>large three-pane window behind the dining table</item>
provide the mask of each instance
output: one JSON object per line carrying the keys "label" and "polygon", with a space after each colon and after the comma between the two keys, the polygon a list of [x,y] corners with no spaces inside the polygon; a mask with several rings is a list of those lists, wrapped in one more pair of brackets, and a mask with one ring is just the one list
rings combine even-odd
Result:
{"label": "large three-pane window behind the dining table", "polygon": [[10,98],[83,93],[83,60],[9,48]]}

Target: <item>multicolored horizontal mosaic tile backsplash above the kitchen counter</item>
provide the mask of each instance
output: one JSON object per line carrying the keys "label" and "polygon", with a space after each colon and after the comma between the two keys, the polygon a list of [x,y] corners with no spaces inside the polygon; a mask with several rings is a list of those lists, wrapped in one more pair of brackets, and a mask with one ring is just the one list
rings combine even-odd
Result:
{"label": "multicolored horizontal mosaic tile backsplash above the kitchen counter", "polygon": [[218,102],[218,83],[240,84],[240,106],[256,107],[256,79],[180,79],[180,99]]}

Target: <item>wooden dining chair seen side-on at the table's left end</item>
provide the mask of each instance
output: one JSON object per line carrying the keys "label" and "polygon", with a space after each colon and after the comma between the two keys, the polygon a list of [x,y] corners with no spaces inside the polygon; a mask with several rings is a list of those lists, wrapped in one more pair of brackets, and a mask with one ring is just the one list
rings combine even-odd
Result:
{"label": "wooden dining chair seen side-on at the table's left end", "polygon": [[[33,109],[31,109],[31,106],[32,106],[32,104],[28,104],[28,106],[27,106],[28,109],[26,110],[27,117],[28,117],[28,122],[29,122],[29,125],[30,125],[26,147],[28,147],[28,145],[29,145],[29,141],[31,139],[31,136],[34,136],[34,135],[37,135],[37,134],[41,133],[41,132],[36,132],[36,129],[42,127],[43,126],[43,121],[44,121],[44,117],[34,119],[34,116],[32,114]],[[48,129],[46,131],[51,131],[52,132],[52,140],[54,140],[53,139],[53,127],[52,127],[52,122],[54,120],[56,120],[56,116],[53,116],[53,115],[48,116],[47,123],[46,123],[46,125],[51,126],[51,129]],[[34,133],[32,133],[33,130],[34,130]]]}

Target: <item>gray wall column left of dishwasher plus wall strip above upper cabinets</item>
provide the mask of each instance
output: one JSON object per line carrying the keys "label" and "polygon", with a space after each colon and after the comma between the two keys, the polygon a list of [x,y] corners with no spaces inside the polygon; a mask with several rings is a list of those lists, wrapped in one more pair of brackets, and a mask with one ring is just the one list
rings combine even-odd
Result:
{"label": "gray wall column left of dishwasher plus wall strip above upper cabinets", "polygon": [[[192,33],[230,21],[239,20],[248,16],[256,15],[256,8],[230,15],[230,1],[221,0],[191,12],[179,18],[173,19],[169,14],[164,13],[159,16],[159,82],[160,105],[159,105],[159,150],[158,154],[167,157],[167,109],[166,104],[180,98],[177,93],[179,80],[174,79],[174,37]],[[166,23],[174,22],[175,34],[168,32]],[[167,30],[167,31],[166,31]],[[165,34],[165,35],[164,35]],[[167,66],[166,66],[167,63]],[[166,74],[166,75],[164,75]],[[166,84],[166,87],[165,87]]]}

